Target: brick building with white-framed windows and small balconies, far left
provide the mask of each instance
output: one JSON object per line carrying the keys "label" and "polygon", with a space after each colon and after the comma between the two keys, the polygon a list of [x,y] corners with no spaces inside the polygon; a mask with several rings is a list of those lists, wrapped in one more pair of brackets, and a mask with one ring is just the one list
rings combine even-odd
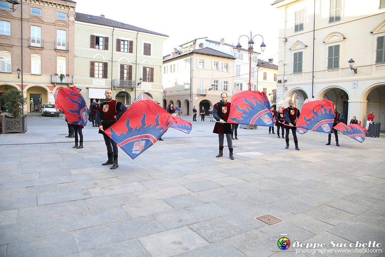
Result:
{"label": "brick building with white-framed windows and small balconies, far left", "polygon": [[[76,3],[70,0],[48,2],[23,0],[23,7],[19,4],[16,11],[12,12],[8,3],[0,1],[2,111],[7,110],[4,93],[10,88],[22,90],[24,96],[28,98],[28,103],[24,106],[24,113],[27,113],[40,110],[44,103],[54,103],[55,90],[73,84],[75,5]],[[23,10],[23,65],[20,40],[21,10]],[[21,70],[19,78],[18,68]]]}

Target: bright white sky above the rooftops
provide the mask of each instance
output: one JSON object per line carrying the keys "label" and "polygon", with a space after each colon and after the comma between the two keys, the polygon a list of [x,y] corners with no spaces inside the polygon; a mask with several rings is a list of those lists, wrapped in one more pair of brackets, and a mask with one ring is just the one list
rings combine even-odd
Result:
{"label": "bright white sky above the rooftops", "polygon": [[[225,43],[238,43],[239,36],[250,31],[261,34],[266,49],[259,59],[273,58],[278,63],[277,10],[271,5],[274,0],[224,1],[101,1],[75,0],[76,12],[90,15],[104,14],[105,18],[152,30],[169,36],[163,44],[163,55],[174,47],[199,37],[214,41],[224,38]],[[99,4],[100,3],[100,4]],[[241,37],[242,47],[247,48],[248,39]],[[254,38],[254,51],[262,38]],[[179,47],[178,47],[179,48]]]}

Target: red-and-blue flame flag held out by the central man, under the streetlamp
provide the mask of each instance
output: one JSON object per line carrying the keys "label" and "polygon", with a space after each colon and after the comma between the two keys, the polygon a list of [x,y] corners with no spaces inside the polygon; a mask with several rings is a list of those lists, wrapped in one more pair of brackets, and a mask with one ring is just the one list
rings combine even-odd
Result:
{"label": "red-and-blue flame flag held out by the central man, under the streetlamp", "polygon": [[262,91],[242,91],[231,98],[228,123],[273,127],[270,102]]}

